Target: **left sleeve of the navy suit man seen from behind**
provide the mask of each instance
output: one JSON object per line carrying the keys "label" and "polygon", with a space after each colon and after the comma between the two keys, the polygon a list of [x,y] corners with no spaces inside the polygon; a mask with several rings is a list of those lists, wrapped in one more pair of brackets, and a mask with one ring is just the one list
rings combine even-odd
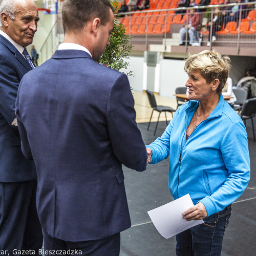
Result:
{"label": "left sleeve of the navy suit man seen from behind", "polygon": [[[22,81],[23,81],[23,79],[22,79]],[[22,81],[20,81],[19,89],[20,89],[20,87],[22,87]],[[19,109],[18,109],[18,107],[19,107],[19,89],[18,89],[17,98],[16,98],[16,117],[17,117],[17,122],[18,122],[18,131],[19,131],[20,139],[22,140],[22,152],[28,160],[33,160],[29,141],[28,141],[28,135],[27,135],[26,129],[21,121],[20,113],[19,113]]]}

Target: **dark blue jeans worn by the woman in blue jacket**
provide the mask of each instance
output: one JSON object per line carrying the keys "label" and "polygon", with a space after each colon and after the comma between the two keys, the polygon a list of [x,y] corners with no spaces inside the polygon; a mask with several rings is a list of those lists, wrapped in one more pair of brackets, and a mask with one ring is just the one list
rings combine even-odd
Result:
{"label": "dark blue jeans worn by the woman in blue jacket", "polygon": [[176,236],[178,256],[221,255],[222,241],[228,225],[231,205],[203,219],[204,224],[187,229]]}

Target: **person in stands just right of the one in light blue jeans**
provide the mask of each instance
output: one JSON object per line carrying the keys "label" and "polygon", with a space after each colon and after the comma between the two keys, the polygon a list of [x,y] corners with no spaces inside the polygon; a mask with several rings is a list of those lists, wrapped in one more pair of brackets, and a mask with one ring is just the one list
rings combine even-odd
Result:
{"label": "person in stands just right of the one in light blue jeans", "polygon": [[[212,42],[216,41],[215,32],[220,31],[222,29],[223,20],[224,20],[224,16],[222,14],[221,8],[215,7],[214,18],[212,19],[212,21],[210,20],[208,22],[209,36],[208,36],[207,46],[210,46],[210,35],[211,35],[211,41]],[[211,32],[211,28],[212,28],[212,32]]]}

